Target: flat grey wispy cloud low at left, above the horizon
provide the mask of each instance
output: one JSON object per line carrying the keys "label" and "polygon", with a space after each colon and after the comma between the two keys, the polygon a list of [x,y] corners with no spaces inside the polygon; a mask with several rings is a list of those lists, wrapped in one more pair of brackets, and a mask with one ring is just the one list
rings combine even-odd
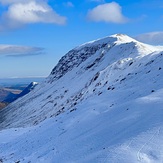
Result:
{"label": "flat grey wispy cloud low at left, above the horizon", "polygon": [[23,57],[44,54],[44,48],[19,45],[0,45],[0,56]]}

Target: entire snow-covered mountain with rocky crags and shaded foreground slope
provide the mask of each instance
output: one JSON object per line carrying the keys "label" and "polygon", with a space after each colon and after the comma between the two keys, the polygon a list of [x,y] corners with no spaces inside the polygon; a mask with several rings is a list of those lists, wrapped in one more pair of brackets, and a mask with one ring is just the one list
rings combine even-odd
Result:
{"label": "entire snow-covered mountain with rocky crags and shaded foreground slope", "polygon": [[162,162],[162,63],[122,34],[69,51],[0,111],[0,162]]}

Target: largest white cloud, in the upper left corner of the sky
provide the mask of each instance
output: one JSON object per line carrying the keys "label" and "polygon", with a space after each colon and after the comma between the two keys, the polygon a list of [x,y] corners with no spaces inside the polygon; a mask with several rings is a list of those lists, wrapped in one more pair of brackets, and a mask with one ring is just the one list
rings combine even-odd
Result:
{"label": "largest white cloud, in the upper left corner of the sky", "polygon": [[8,9],[1,16],[3,28],[18,28],[31,23],[53,23],[64,25],[66,17],[57,14],[46,1],[38,0],[0,0]]}

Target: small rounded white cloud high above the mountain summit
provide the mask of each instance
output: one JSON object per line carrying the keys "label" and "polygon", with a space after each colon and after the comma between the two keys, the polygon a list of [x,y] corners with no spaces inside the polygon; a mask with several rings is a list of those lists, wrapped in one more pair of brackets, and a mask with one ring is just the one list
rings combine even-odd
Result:
{"label": "small rounded white cloud high above the mountain summit", "polygon": [[125,23],[127,18],[122,15],[122,8],[116,2],[98,5],[88,11],[87,17],[95,22]]}

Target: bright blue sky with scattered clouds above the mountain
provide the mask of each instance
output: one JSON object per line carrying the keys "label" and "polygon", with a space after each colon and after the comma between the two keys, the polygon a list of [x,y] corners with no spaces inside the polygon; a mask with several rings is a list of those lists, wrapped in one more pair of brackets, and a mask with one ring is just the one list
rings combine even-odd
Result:
{"label": "bright blue sky with scattered clouds above the mountain", "polygon": [[0,78],[47,77],[72,48],[116,33],[163,45],[163,1],[0,0]]}

